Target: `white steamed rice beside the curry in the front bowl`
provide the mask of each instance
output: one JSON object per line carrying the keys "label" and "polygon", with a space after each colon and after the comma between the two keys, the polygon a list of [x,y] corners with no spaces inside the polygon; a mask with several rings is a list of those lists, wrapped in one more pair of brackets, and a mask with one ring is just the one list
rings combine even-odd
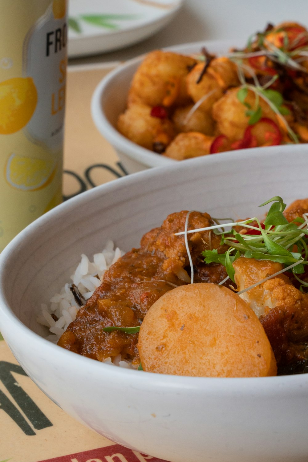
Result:
{"label": "white steamed rice beside the curry in the front bowl", "polygon": [[[47,340],[57,343],[68,325],[76,319],[79,306],[76,304],[70,285],[75,284],[83,298],[88,300],[101,285],[105,271],[124,255],[122,250],[114,247],[113,241],[108,241],[101,253],[93,255],[93,261],[90,261],[86,255],[81,255],[81,261],[71,276],[72,283],[66,283],[59,293],[55,293],[48,305],[41,304],[41,313],[37,317],[37,322],[48,327],[50,334],[46,337]],[[54,318],[58,320],[55,321]],[[107,358],[103,362],[120,367],[133,367],[129,360],[122,360],[121,354],[113,360]]]}

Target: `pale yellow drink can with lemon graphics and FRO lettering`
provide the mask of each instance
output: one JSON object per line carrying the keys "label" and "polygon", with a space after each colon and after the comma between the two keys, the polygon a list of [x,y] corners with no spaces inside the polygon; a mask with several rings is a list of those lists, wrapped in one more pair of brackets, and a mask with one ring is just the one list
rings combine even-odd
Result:
{"label": "pale yellow drink can with lemon graphics and FRO lettering", "polygon": [[0,251],[62,201],[67,0],[0,0]]}

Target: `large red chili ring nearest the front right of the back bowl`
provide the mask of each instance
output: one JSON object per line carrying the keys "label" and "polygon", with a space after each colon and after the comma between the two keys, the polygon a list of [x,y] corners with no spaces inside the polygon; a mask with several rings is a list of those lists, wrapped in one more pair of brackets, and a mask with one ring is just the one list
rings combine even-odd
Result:
{"label": "large red chili ring nearest the front right of the back bowl", "polygon": [[245,135],[249,136],[248,134],[258,140],[258,146],[276,146],[279,145],[283,139],[277,123],[267,117],[261,117],[259,122],[254,125],[249,125],[245,131]]}

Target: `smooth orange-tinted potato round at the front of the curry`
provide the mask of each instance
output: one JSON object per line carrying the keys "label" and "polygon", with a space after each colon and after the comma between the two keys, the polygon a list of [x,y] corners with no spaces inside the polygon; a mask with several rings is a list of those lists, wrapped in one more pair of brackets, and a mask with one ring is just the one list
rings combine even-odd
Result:
{"label": "smooth orange-tinted potato round at the front of the curry", "polygon": [[262,377],[277,366],[266,333],[250,306],[215,284],[165,293],[139,332],[145,371],[193,377]]}

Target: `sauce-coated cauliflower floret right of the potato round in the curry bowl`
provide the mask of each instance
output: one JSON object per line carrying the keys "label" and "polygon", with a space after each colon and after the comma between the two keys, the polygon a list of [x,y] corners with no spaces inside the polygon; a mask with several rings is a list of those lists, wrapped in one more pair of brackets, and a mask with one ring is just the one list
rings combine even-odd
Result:
{"label": "sauce-coated cauliflower floret right of the potato round in the curry bowl", "polygon": [[[239,258],[233,263],[241,291],[282,269],[280,263]],[[308,295],[280,274],[240,295],[248,301],[266,331],[278,364],[308,357]]]}

